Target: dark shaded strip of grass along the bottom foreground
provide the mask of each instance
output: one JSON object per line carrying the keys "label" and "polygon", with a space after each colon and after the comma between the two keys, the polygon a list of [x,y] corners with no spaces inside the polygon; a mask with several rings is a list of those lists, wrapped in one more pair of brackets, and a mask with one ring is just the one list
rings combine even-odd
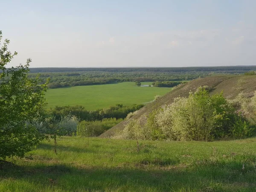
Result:
{"label": "dark shaded strip of grass along the bottom foreground", "polygon": [[[7,164],[0,178],[35,185],[38,191],[255,191],[256,171],[241,163],[198,162],[182,166],[81,167]],[[13,186],[13,185],[12,185]],[[22,187],[22,186],[20,186]],[[32,191],[30,188],[26,190]]]}

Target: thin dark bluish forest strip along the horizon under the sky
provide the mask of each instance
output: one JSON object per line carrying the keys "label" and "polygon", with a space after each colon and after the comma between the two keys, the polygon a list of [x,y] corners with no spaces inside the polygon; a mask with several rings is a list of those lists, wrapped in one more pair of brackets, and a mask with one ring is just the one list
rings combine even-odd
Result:
{"label": "thin dark bluish forest strip along the horizon under the sky", "polygon": [[[190,71],[251,71],[256,66],[226,66],[226,67],[119,67],[119,68],[30,68],[31,73],[41,72],[190,72]],[[232,72],[233,73],[233,72]]]}

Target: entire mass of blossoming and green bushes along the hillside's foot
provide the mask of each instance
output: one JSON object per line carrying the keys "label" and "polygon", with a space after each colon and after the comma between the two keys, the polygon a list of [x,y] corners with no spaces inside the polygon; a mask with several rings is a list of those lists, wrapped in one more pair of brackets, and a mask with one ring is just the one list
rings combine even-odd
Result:
{"label": "entire mass of blossoming and green bushes along the hillside's foot", "polygon": [[188,98],[178,97],[171,105],[150,113],[145,125],[130,122],[119,135],[126,139],[200,140],[224,137],[249,137],[253,129],[222,93],[209,96],[207,87],[199,87]]}

